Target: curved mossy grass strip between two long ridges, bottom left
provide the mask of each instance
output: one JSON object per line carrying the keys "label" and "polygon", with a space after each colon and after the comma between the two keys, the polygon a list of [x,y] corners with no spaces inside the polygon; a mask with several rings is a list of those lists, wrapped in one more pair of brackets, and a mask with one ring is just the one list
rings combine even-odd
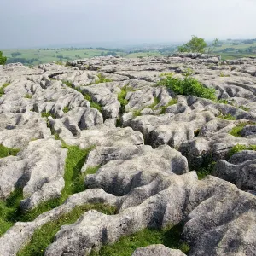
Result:
{"label": "curved mossy grass strip between two long ridges, bottom left", "polygon": [[54,241],[55,234],[61,229],[62,225],[73,224],[86,211],[95,209],[105,214],[114,214],[115,207],[103,204],[87,204],[75,207],[72,212],[63,214],[60,218],[44,224],[36,230],[31,241],[17,253],[18,256],[39,256],[44,255],[45,249]]}

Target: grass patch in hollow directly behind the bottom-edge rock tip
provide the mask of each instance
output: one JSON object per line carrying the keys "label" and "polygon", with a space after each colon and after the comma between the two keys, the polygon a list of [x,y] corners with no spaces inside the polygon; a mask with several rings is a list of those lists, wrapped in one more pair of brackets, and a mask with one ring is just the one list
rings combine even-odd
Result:
{"label": "grass patch in hollow directly behind the bottom-edge rock tip", "polygon": [[164,230],[145,229],[131,236],[125,236],[112,245],[103,246],[99,252],[92,252],[90,256],[131,256],[138,247],[151,244],[164,244],[166,247],[180,249],[189,253],[189,245],[181,242],[183,224]]}

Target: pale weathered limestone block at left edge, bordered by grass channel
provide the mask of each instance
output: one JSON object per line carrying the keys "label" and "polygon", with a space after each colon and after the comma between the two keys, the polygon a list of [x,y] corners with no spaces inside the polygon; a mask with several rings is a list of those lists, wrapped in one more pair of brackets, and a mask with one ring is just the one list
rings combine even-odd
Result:
{"label": "pale weathered limestone block at left edge, bordered by grass channel", "polygon": [[40,202],[59,197],[64,188],[67,149],[54,139],[36,140],[16,157],[0,159],[0,197],[7,198],[16,187],[23,189],[21,208],[32,209]]}

